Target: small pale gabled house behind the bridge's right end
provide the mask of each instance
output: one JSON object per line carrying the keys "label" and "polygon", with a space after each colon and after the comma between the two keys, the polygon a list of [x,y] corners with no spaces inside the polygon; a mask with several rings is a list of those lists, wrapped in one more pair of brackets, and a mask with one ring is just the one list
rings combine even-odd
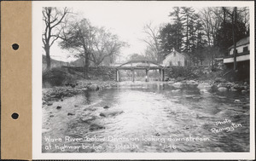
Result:
{"label": "small pale gabled house behind the bridge's right end", "polygon": [[189,57],[173,49],[163,60],[163,66],[189,66]]}

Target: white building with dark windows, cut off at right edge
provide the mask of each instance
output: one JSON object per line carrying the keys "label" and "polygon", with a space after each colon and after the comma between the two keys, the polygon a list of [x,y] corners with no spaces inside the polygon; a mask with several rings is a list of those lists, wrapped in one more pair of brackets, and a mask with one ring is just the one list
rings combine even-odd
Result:
{"label": "white building with dark windows, cut off at right edge", "polygon": [[[236,61],[247,61],[250,60],[250,37],[245,37],[236,43]],[[234,62],[234,45],[230,46],[228,55],[224,57],[224,64]]]}

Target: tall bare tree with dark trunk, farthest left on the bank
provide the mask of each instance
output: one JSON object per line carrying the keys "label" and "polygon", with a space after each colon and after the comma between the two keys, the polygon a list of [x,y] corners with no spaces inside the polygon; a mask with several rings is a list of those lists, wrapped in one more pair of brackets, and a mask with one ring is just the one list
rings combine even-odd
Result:
{"label": "tall bare tree with dark trunk, farthest left on the bank", "polygon": [[49,49],[59,38],[61,29],[58,27],[61,26],[61,23],[67,17],[68,13],[69,11],[67,8],[64,8],[62,11],[52,7],[43,8],[42,14],[45,28],[42,40],[44,43],[43,48],[46,55],[47,70],[50,69]]}

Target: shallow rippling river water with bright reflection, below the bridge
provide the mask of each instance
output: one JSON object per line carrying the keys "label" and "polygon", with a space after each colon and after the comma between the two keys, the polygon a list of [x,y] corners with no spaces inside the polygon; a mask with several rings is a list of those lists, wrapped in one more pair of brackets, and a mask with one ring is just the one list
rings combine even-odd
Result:
{"label": "shallow rippling river water with bright reflection, below the bridge", "polygon": [[[248,98],[160,82],[84,92],[44,106],[42,151],[248,152],[249,108],[242,106]],[[100,116],[106,111],[118,113]],[[90,129],[91,124],[103,129]]]}

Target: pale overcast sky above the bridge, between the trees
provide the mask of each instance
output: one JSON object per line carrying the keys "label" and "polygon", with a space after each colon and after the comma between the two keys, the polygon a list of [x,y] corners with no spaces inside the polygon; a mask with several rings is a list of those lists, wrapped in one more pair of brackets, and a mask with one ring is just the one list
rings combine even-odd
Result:
{"label": "pale overcast sky above the bridge, between the trees", "polygon": [[[89,19],[93,26],[105,26],[128,43],[130,46],[121,50],[122,57],[118,59],[125,60],[127,55],[142,54],[146,49],[142,41],[145,37],[143,26],[149,22],[152,22],[152,26],[169,22],[171,18],[168,14],[172,7],[166,3],[155,5],[153,2],[86,2],[73,7],[73,12],[78,13],[79,18]],[[57,43],[52,46],[51,55],[55,60],[73,60],[67,59],[67,50],[61,50]]]}

